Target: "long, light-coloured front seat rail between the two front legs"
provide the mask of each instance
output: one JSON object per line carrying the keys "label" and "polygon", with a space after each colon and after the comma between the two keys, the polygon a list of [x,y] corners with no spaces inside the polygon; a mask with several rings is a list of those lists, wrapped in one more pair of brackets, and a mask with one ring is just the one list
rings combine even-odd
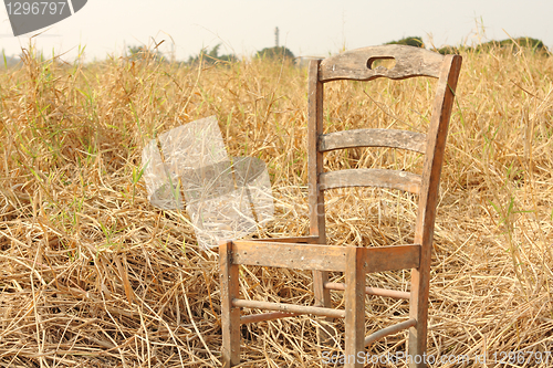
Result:
{"label": "long, light-coloured front seat rail between the two front legs", "polygon": [[316,271],[345,271],[344,246],[237,240],[232,263]]}

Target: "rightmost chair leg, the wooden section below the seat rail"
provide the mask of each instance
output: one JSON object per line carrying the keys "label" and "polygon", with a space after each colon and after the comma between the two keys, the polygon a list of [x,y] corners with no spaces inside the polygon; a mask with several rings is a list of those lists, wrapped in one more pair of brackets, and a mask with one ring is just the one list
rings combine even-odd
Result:
{"label": "rightmost chair leg, the wooden section below the seat rail", "polygon": [[410,318],[417,324],[409,328],[408,361],[410,368],[426,368],[426,345],[428,333],[428,288],[430,270],[411,271]]}

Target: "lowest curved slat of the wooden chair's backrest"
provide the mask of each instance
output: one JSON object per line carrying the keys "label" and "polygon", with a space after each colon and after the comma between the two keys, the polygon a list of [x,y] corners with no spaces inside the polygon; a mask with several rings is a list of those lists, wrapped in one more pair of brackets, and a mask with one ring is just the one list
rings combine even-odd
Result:
{"label": "lowest curved slat of the wooden chair's backrest", "polygon": [[377,187],[418,194],[421,182],[420,175],[386,169],[348,169],[323,172],[320,176],[322,190],[347,187]]}

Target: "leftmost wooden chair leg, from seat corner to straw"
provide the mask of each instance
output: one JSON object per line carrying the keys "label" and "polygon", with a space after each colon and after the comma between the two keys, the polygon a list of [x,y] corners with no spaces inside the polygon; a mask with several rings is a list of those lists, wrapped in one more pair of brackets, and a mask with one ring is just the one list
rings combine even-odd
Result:
{"label": "leftmost wooden chair leg, from seat corner to straw", "polygon": [[232,299],[238,297],[238,265],[232,264],[231,252],[231,241],[219,245],[222,366],[225,368],[240,364],[240,308],[232,306]]}

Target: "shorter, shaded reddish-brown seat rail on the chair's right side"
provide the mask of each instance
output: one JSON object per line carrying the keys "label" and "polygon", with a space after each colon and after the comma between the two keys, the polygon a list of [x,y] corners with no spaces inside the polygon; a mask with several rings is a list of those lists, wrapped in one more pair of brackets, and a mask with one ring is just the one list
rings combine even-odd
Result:
{"label": "shorter, shaded reddish-brown seat rail on the chair's right side", "polygon": [[418,269],[420,244],[364,248],[366,273]]}

